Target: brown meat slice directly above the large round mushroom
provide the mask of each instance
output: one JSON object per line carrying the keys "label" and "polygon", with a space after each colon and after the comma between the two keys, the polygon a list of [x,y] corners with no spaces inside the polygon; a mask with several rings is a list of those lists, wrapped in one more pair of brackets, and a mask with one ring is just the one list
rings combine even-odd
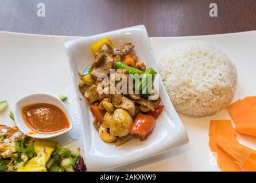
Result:
{"label": "brown meat slice directly above the large round mushroom", "polygon": [[129,100],[127,97],[122,94],[112,94],[111,100],[115,108],[125,109],[131,116],[135,115],[135,105],[133,101]]}

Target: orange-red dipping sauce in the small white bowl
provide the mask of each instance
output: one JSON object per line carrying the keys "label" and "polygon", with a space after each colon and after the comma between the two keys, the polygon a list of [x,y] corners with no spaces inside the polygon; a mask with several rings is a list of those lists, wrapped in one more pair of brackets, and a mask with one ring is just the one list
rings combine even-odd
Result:
{"label": "orange-red dipping sauce in the small white bowl", "polygon": [[21,114],[29,128],[37,133],[56,133],[69,128],[66,114],[52,104],[26,105],[21,109]]}

